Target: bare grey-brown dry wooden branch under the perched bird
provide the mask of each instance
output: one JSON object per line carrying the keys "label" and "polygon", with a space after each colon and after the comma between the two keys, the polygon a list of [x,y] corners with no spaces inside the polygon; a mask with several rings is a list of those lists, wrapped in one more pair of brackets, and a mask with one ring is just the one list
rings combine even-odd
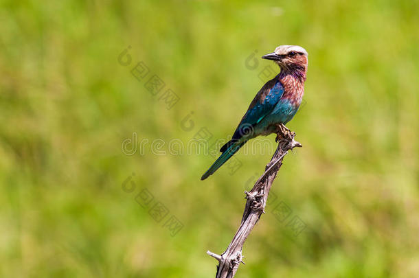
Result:
{"label": "bare grey-brown dry wooden branch under the perched bird", "polygon": [[245,264],[242,259],[242,248],[245,240],[249,236],[251,230],[258,222],[264,208],[267,204],[267,198],[271,185],[275,179],[278,170],[282,165],[282,159],[288,150],[295,147],[302,147],[300,143],[294,140],[295,132],[291,132],[284,125],[277,126],[278,148],[273,154],[271,161],[265,167],[265,172],[260,176],[258,181],[250,192],[245,192],[247,199],[245,211],[243,212],[242,222],[233,240],[231,240],[227,250],[222,255],[214,254],[207,251],[207,254],[214,257],[218,261],[216,278],[232,278],[236,275],[240,262]]}

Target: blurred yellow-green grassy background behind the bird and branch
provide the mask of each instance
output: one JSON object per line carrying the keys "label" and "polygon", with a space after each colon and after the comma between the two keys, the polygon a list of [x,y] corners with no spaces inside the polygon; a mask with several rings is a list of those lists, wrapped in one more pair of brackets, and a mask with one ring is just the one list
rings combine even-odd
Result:
{"label": "blurred yellow-green grassy background behind the bird and branch", "polygon": [[[418,1],[0,3],[1,277],[214,277],[205,251],[225,250],[271,154],[240,151],[234,174],[201,182],[214,158],[150,143],[231,135],[262,70],[278,71],[260,56],[284,44],[309,53],[288,124],[304,148],[286,157],[236,276],[419,277]],[[154,199],[143,207],[140,192]]]}

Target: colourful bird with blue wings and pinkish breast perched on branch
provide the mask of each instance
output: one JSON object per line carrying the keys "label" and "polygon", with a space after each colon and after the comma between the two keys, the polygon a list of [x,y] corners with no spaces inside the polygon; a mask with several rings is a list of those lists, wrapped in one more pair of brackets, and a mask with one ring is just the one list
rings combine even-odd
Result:
{"label": "colourful bird with blue wings and pinkish breast perched on branch", "polygon": [[201,181],[214,174],[250,139],[286,128],[285,124],[293,119],[302,103],[308,67],[306,49],[298,45],[280,45],[262,58],[273,60],[280,67],[280,73],[258,91],[231,140],[220,148],[220,157],[203,174]]}

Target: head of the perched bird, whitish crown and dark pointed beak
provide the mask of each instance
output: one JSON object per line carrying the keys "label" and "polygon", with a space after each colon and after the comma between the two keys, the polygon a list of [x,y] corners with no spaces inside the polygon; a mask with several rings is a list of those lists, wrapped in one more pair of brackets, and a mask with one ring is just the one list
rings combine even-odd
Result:
{"label": "head of the perched bird, whitish crown and dark pointed beak", "polygon": [[298,45],[280,45],[275,48],[273,53],[262,56],[262,58],[274,60],[284,71],[307,71],[308,53],[306,49]]}

